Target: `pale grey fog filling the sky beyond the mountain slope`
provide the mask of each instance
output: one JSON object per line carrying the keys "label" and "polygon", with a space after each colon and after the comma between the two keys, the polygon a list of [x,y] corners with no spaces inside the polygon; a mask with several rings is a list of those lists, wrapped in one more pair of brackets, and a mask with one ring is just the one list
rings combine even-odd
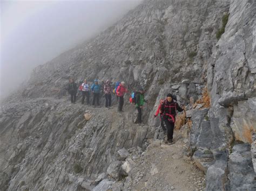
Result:
{"label": "pale grey fog filling the sky beyond the mountain slope", "polygon": [[141,1],[1,1],[0,99],[33,68],[96,36]]}

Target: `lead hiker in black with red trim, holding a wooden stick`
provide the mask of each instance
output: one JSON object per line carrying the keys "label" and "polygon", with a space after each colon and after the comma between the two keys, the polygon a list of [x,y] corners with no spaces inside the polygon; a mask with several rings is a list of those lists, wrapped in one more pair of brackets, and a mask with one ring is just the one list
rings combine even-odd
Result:
{"label": "lead hiker in black with red trim, holding a wooden stick", "polygon": [[167,140],[165,143],[173,143],[173,129],[176,119],[176,110],[179,112],[183,111],[183,108],[180,108],[177,102],[173,101],[173,95],[168,94],[166,100],[161,105],[160,114],[163,115],[165,125],[167,127]]}

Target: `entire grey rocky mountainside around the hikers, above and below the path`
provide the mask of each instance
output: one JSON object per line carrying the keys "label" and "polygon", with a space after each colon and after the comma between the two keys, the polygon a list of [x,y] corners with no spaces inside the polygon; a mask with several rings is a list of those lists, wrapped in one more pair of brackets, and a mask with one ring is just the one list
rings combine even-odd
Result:
{"label": "entire grey rocky mountainside around the hikers, above and below the path", "polygon": [[[1,188],[91,189],[120,148],[145,149],[158,137],[150,116],[174,93],[187,108],[194,105],[187,155],[206,173],[206,189],[255,189],[255,12],[250,0],[145,1],[95,39],[35,68],[1,107]],[[69,77],[143,87],[147,125],[132,123],[136,114],[127,104],[125,114],[69,105]]]}

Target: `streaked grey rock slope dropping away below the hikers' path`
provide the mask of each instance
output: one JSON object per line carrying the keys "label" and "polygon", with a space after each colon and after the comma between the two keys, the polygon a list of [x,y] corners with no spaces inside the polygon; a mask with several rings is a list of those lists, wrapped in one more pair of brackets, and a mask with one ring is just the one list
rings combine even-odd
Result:
{"label": "streaked grey rock slope dropping away below the hikers' path", "polygon": [[143,147],[147,126],[116,109],[87,107],[89,121],[84,112],[84,105],[46,98],[2,108],[1,169],[9,176],[1,173],[1,180],[9,189],[24,187],[21,181],[35,190],[76,188],[78,178],[106,171],[120,148]]}

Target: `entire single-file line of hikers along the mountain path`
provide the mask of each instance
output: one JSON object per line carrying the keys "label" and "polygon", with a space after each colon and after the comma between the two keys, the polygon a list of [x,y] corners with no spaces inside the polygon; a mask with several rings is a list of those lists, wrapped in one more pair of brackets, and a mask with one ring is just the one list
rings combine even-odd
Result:
{"label": "entire single-file line of hikers along the mountain path", "polygon": [[[77,88],[77,84],[70,79],[69,86],[67,88],[68,92],[71,95],[71,103],[76,102],[76,94],[77,89],[82,91],[82,104],[84,104],[84,100],[86,97],[86,103],[90,103],[90,92],[93,95],[92,99],[92,105],[99,106],[99,97],[100,97],[100,90],[101,86],[99,85],[98,80],[95,80],[93,84],[91,84],[91,87],[87,80],[85,79],[82,84],[80,84],[79,88]],[[111,107],[112,102],[112,93],[117,96],[118,99],[118,112],[123,112],[123,105],[124,105],[124,95],[128,93],[127,88],[125,87],[125,82],[117,82],[114,86],[114,89],[112,90],[111,81],[107,80],[105,83],[103,82],[103,93],[105,95],[105,107],[109,108]],[[144,99],[144,89],[139,89],[137,92],[133,91],[130,96],[130,103],[134,103],[136,105],[136,108],[138,110],[138,124],[143,125],[143,106],[146,100]],[[154,114],[154,117],[157,117],[160,114],[160,124],[161,128],[163,129],[165,135],[167,134],[167,139],[165,140],[165,143],[172,144],[173,143],[173,129],[174,124],[176,121],[176,114],[177,111],[181,112],[184,110],[183,107],[179,107],[179,104],[177,103],[177,97],[172,94],[167,94],[165,100],[160,100],[160,103],[158,105],[156,114]],[[165,128],[165,125],[166,128]],[[167,130],[166,130],[167,129]],[[167,131],[167,132],[166,132]]]}

